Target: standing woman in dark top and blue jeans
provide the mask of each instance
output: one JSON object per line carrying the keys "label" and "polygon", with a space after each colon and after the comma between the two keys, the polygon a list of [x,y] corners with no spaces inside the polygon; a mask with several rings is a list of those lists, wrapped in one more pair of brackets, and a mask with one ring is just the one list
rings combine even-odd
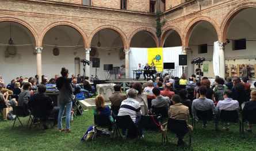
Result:
{"label": "standing woman in dark top and blue jeans", "polygon": [[62,68],[60,71],[62,76],[56,80],[56,87],[60,91],[58,102],[59,102],[59,115],[58,115],[58,129],[59,131],[65,131],[62,128],[62,115],[66,107],[66,132],[70,132],[70,116],[72,109],[72,79],[68,78],[68,69]]}

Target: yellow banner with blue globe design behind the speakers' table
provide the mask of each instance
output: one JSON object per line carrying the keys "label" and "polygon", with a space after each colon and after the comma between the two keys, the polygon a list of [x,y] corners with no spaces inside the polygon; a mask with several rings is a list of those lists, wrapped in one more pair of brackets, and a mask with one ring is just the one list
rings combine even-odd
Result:
{"label": "yellow banner with blue globe design behind the speakers' table", "polygon": [[148,64],[155,64],[156,71],[163,71],[163,48],[148,48]]}

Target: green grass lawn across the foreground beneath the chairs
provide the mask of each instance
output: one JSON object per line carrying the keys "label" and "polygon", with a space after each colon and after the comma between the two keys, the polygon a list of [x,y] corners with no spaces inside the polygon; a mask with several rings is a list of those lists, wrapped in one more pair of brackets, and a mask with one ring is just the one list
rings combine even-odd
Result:
{"label": "green grass lawn across the foreground beneath the chairs", "polygon": [[[26,122],[22,119],[22,122]],[[0,121],[0,150],[255,150],[256,137],[246,133],[246,138],[239,135],[239,125],[231,125],[230,131],[220,130],[217,133],[213,124],[207,129],[197,129],[193,133],[192,148],[178,148],[174,134],[169,134],[169,143],[162,145],[161,134],[144,131],[143,140],[122,140],[97,138],[93,142],[81,142],[87,127],[93,124],[92,111],[85,111],[82,116],[75,117],[71,123],[71,133],[60,133],[54,129],[26,129],[18,126],[12,129],[13,121]],[[221,128],[221,125],[220,125]],[[185,137],[188,141],[188,137]]]}

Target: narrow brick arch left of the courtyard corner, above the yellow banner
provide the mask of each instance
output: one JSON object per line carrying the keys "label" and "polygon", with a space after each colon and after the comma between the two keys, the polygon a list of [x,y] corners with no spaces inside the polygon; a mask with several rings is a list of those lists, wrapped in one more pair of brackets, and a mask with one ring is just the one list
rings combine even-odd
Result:
{"label": "narrow brick arch left of the courtyard corner, above the yellow banner", "polygon": [[159,47],[158,37],[155,34],[155,30],[150,29],[150,28],[138,28],[138,29],[133,30],[133,32],[130,34],[130,36],[128,38],[129,47],[131,46],[133,36],[135,36],[136,33],[139,33],[142,31],[148,32],[150,34],[150,36],[154,39],[156,47]]}

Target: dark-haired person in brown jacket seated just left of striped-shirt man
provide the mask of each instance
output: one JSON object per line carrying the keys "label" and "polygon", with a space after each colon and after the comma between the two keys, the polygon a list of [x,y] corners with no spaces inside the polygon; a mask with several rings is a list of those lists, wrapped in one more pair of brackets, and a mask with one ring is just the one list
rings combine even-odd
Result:
{"label": "dark-haired person in brown jacket seated just left of striped-shirt man", "polygon": [[114,93],[111,96],[109,96],[109,100],[111,102],[111,110],[113,111],[114,115],[118,114],[121,103],[126,98],[127,96],[125,94],[122,94],[120,84],[116,84],[114,86]]}

